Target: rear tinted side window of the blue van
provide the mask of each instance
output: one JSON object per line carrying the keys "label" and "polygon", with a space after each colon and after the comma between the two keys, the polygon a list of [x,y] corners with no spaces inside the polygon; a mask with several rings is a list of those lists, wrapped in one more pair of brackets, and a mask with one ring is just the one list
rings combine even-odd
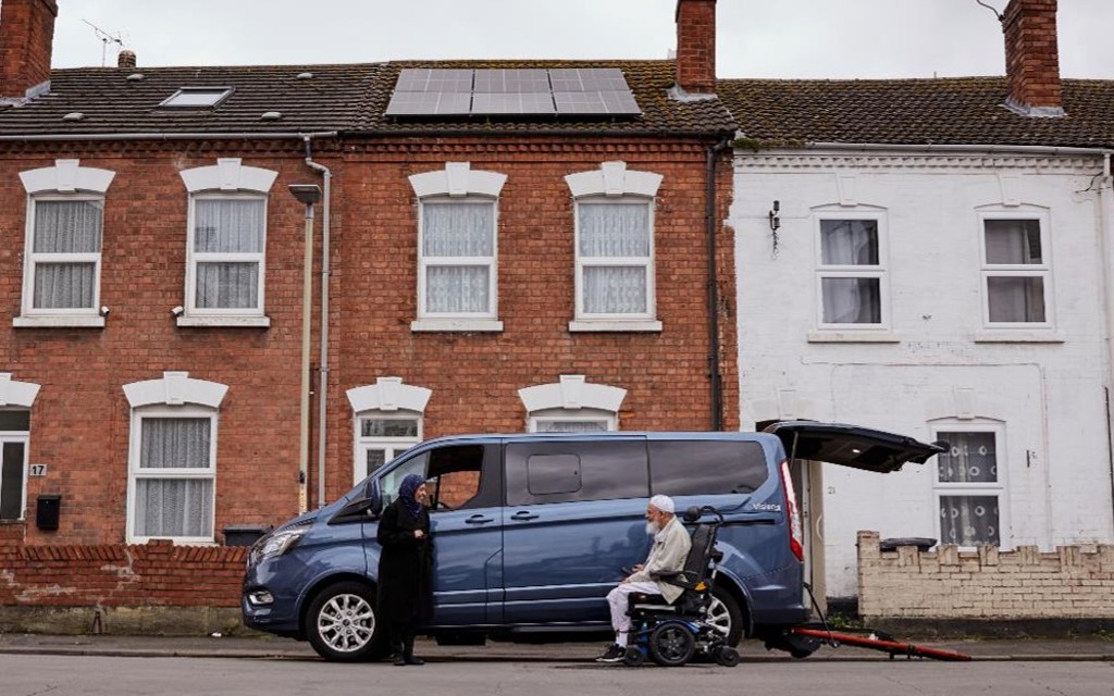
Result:
{"label": "rear tinted side window of the blue van", "polygon": [[649,479],[656,496],[749,493],[769,477],[758,442],[651,440]]}

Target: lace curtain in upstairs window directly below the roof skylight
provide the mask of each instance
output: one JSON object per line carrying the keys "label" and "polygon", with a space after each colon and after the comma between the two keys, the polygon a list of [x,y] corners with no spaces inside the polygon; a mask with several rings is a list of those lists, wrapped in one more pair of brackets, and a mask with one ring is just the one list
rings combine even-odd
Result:
{"label": "lace curtain in upstairs window directly below the roof skylight", "polygon": [[[265,217],[263,200],[196,200],[194,252],[262,255]],[[198,308],[258,307],[260,262],[198,261],[196,272],[195,302]]]}

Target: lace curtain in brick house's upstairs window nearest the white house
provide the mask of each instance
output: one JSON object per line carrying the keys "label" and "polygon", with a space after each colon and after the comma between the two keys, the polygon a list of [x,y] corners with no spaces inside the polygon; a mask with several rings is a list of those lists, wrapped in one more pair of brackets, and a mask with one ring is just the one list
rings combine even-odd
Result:
{"label": "lace curtain in brick house's upstairs window nearest the white house", "polygon": [[638,265],[583,264],[580,291],[585,313],[647,313],[649,205],[582,203],[577,208],[582,259],[643,259]]}

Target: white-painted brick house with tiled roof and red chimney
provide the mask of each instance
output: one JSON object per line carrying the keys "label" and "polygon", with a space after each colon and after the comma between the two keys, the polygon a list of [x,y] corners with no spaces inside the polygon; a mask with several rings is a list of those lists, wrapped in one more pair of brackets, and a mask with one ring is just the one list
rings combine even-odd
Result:
{"label": "white-painted brick house with tiled roof and red chimney", "polygon": [[858,530],[1114,541],[1114,82],[1062,81],[1049,20],[1055,37],[1052,0],[1005,17],[1007,63],[1051,51],[1044,72],[719,85],[743,136],[742,428],[814,419],[951,444],[888,476],[807,469],[827,597],[857,595]]}

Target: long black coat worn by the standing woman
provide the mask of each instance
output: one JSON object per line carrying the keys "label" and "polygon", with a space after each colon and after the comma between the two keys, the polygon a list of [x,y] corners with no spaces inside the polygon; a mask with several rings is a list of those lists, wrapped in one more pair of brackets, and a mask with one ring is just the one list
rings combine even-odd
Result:
{"label": "long black coat worn by the standing woman", "polygon": [[[414,530],[426,533],[414,538]],[[379,556],[377,614],[385,621],[419,624],[433,608],[433,538],[429,512],[422,507],[414,518],[401,501],[387,506],[375,535]]]}

